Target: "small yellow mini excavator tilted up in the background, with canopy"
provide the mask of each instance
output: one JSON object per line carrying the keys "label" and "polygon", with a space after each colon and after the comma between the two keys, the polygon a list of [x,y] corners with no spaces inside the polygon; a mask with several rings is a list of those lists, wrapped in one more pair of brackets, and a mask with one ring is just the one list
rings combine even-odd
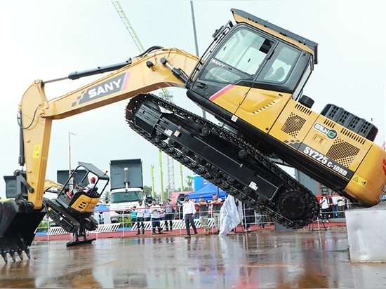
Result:
{"label": "small yellow mini excavator tilted up in the background, with canopy", "polygon": [[[81,187],[86,187],[85,183],[88,180],[93,180],[93,186],[88,190],[77,189],[74,180],[79,180],[79,177]],[[79,162],[79,166],[69,176],[58,197],[54,200],[45,199],[47,215],[75,236],[75,241],[68,242],[67,246],[91,243],[95,240],[87,239],[86,231],[98,228],[98,220],[95,220],[93,213],[108,183],[107,172],[102,172],[91,163]],[[83,240],[79,240],[79,237]]]}

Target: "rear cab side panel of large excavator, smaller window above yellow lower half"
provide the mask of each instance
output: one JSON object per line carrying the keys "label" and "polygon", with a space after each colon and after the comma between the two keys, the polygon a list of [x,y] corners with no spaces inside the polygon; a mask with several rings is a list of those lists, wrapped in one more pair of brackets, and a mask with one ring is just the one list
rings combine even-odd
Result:
{"label": "rear cab side panel of large excavator, smaller window above yellow lower half", "polygon": [[310,55],[278,42],[244,95],[234,115],[268,133],[293,97]]}

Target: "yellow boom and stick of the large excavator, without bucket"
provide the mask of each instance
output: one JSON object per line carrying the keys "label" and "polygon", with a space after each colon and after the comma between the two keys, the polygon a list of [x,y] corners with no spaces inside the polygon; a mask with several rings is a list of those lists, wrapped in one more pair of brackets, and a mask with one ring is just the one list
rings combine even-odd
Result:
{"label": "yellow boom and stick of the large excavator, without bucket", "polygon": [[[163,61],[178,69],[172,71],[161,63]],[[34,210],[40,209],[43,203],[53,119],[81,114],[158,88],[183,87],[185,83],[173,73],[177,76],[181,74],[180,78],[187,78],[186,75],[190,74],[196,63],[197,57],[185,51],[157,48],[133,58],[126,66],[98,81],[53,100],[46,98],[45,83],[41,80],[34,81],[23,95],[19,106],[25,174],[30,186],[27,199],[33,204]],[[100,69],[88,71],[86,75],[93,73],[100,73]],[[74,73],[71,77],[75,78],[77,75]]]}

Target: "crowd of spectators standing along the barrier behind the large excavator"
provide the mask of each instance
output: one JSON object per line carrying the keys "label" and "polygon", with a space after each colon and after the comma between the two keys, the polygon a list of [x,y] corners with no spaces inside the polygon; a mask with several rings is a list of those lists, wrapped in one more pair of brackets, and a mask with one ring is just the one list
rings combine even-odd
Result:
{"label": "crowd of spectators standing along the barrier behind the large excavator", "polygon": [[[185,195],[185,200],[180,205],[173,205],[171,199],[166,199],[163,203],[157,203],[155,199],[152,203],[138,202],[138,206],[131,208],[131,222],[136,224],[137,235],[145,234],[145,222],[151,222],[151,234],[163,234],[164,231],[173,231],[173,220],[180,220],[185,224],[186,237],[190,238],[191,234],[197,234],[197,227],[194,222],[199,219],[204,234],[209,234],[211,229],[213,233],[219,234],[221,231],[221,208],[224,200],[220,199],[217,194],[212,195],[210,201],[205,201],[204,196],[194,202],[189,199],[189,194]],[[236,218],[237,224],[241,224],[244,231],[249,231],[251,224],[258,224],[264,228],[265,224],[272,223],[269,217],[260,214],[255,218],[253,209],[245,203],[234,199],[235,207],[239,210],[239,219]],[[347,199],[342,196],[329,196],[322,194],[319,199],[321,206],[321,220],[328,222],[330,218],[345,217],[347,208]],[[213,225],[209,225],[209,220],[213,218]],[[164,225],[164,226],[163,226]],[[192,231],[191,231],[192,230]],[[227,234],[232,234],[231,229]]]}

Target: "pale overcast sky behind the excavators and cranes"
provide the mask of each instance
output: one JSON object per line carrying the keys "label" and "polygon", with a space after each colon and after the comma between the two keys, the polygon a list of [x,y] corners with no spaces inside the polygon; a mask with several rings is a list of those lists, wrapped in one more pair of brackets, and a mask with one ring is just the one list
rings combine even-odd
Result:
{"label": "pale overcast sky behind the excavators and cranes", "polygon": [[[121,0],[121,6],[145,48],[159,45],[195,53],[189,0]],[[328,103],[344,107],[378,126],[375,142],[385,140],[385,27],[386,1],[382,0],[194,0],[199,54],[211,35],[238,8],[319,43],[319,64],[305,94],[321,112]],[[57,79],[70,72],[124,62],[138,55],[111,1],[0,1],[1,142],[0,175],[18,169],[19,130],[16,121],[22,94],[34,79]],[[61,81],[46,86],[48,99],[84,86],[93,79]],[[157,94],[158,92],[156,92]],[[184,90],[173,99],[197,114]],[[128,100],[53,122],[46,178],[71,163],[94,163],[109,168],[112,159],[142,159],[144,182],[161,190],[158,149],[136,135],[124,120]],[[91,138],[93,141],[90,142]],[[166,155],[163,155],[166,187]],[[181,187],[175,163],[175,187]],[[184,178],[192,173],[184,168]],[[0,196],[5,183],[0,182]]]}

